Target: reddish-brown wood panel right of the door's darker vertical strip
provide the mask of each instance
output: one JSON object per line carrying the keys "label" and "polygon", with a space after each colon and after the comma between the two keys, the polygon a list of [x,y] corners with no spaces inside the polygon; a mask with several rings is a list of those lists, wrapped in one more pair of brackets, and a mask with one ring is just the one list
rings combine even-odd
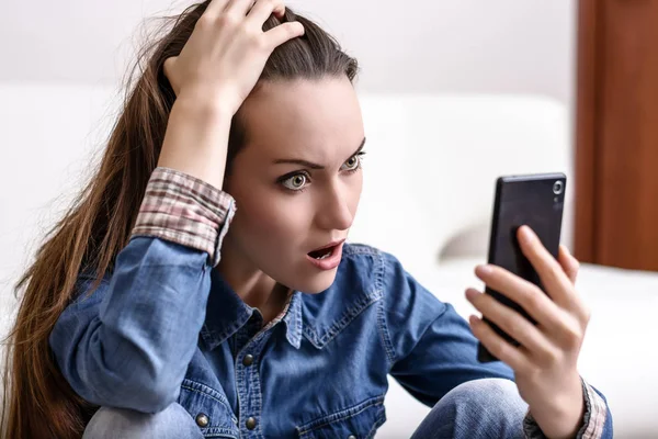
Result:
{"label": "reddish-brown wood panel right of the door's darker vertical strip", "polygon": [[599,4],[594,261],[658,270],[658,1]]}

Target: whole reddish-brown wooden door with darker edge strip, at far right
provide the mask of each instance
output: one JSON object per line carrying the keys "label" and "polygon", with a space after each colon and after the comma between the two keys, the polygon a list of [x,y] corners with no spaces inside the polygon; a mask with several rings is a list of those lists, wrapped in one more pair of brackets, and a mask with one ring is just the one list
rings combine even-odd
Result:
{"label": "whole reddish-brown wooden door with darker edge strip, at far right", "polygon": [[658,1],[580,0],[575,255],[658,271]]}

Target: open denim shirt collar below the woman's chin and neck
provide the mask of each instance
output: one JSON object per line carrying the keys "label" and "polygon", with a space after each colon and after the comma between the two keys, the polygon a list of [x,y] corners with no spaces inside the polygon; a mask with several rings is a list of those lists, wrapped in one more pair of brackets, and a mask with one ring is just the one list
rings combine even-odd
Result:
{"label": "open denim shirt collar below the woman's chin and neck", "polygon": [[[302,294],[293,291],[282,315],[269,324],[272,326],[283,320],[286,339],[296,349],[302,344]],[[245,326],[254,312],[260,313],[258,308],[247,305],[217,270],[212,270],[206,316],[201,329],[201,337],[208,350],[215,349]]]}

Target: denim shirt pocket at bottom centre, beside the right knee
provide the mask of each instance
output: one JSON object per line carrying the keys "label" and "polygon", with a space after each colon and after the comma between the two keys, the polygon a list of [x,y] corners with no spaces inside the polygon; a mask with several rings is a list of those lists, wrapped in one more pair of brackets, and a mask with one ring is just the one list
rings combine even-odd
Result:
{"label": "denim shirt pocket at bottom centre, beside the right knee", "polygon": [[297,426],[300,439],[367,439],[386,421],[384,395]]}

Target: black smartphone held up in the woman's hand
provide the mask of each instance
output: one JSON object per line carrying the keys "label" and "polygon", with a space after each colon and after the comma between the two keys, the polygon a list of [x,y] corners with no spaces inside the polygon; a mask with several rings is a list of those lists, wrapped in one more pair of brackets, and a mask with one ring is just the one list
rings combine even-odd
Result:
{"label": "black smartphone held up in the woman's hand", "polygon": [[[522,225],[530,226],[544,247],[557,259],[566,188],[567,177],[561,172],[498,178],[488,262],[502,267],[545,291],[536,271],[521,251],[517,232]],[[491,294],[536,324],[520,305],[507,296],[488,286],[485,293]],[[517,340],[496,324],[487,318],[484,320],[507,341],[519,346]],[[478,344],[477,359],[480,362],[498,361],[481,342]]]}

